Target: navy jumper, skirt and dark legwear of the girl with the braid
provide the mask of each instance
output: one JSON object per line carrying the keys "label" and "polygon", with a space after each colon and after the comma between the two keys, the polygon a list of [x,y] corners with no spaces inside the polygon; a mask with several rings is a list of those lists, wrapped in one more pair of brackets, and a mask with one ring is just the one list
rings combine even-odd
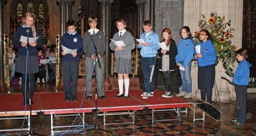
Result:
{"label": "navy jumper, skirt and dark legwear of the girl with the braid", "polygon": [[[29,30],[29,32],[27,33],[26,31]],[[30,46],[28,45],[28,47],[22,47],[21,46],[21,42],[20,42],[20,36],[25,36],[25,37],[34,37],[33,36],[33,32],[32,32],[32,28],[31,27],[26,27],[25,24],[23,24],[21,27],[19,27],[16,31],[16,33],[14,34],[14,39],[13,39],[13,45],[14,47],[16,47],[18,49],[18,55],[17,55],[17,60],[16,60],[16,66],[15,66],[15,72],[19,72],[22,73],[21,74],[21,80],[22,80],[22,94],[24,96],[24,100],[25,100],[25,88],[28,88],[28,85],[26,86],[26,74],[30,74],[30,91],[31,91],[31,99],[33,99],[33,95],[34,95],[34,86],[35,86],[35,73],[38,73],[38,59],[37,59],[37,52],[38,52],[38,48],[41,48],[42,45],[42,40],[41,40],[41,34],[38,31],[38,29],[36,28],[36,37],[39,36],[38,40],[36,41],[36,46]],[[28,49],[28,50],[27,50]],[[29,51],[29,54],[28,52]],[[29,56],[27,56],[27,54]],[[29,62],[27,62],[29,57]],[[28,69],[28,64],[29,64],[29,69]],[[27,90],[26,90],[27,92]],[[26,100],[28,100],[26,98]],[[28,103],[27,103],[28,104]]]}

